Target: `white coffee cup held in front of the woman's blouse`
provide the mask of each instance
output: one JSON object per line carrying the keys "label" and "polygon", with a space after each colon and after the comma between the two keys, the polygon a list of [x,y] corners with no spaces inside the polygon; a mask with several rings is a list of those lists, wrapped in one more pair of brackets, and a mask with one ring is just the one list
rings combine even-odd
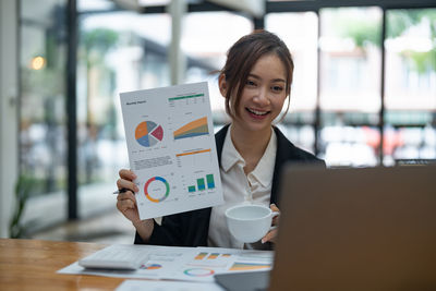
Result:
{"label": "white coffee cup held in front of the woman's blouse", "polygon": [[279,213],[256,204],[242,204],[226,210],[230,233],[240,242],[254,243],[265,237],[271,227],[272,218]]}

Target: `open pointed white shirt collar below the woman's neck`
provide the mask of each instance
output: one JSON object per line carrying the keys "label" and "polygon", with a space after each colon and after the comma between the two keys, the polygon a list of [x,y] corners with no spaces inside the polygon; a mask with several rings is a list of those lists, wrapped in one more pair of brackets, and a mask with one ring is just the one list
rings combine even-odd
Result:
{"label": "open pointed white shirt collar below the woman's neck", "polygon": [[[231,125],[227,131],[221,154],[221,168],[222,170],[225,170],[225,172],[228,172],[237,163],[241,163],[242,168],[245,166],[245,160],[238,153],[237,148],[233,145],[230,132]],[[276,163],[276,151],[277,136],[275,131],[271,129],[271,137],[269,138],[264,155],[258,161],[256,168],[251,173],[249,173],[250,175],[253,175],[265,187],[268,186],[272,181],[274,166]]]}

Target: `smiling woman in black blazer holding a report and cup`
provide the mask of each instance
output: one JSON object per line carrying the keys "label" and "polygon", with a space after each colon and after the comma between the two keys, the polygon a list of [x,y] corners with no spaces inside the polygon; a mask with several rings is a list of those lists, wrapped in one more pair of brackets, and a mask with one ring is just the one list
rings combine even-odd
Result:
{"label": "smiling woman in black blazer holding a report and cup", "polygon": [[[282,166],[288,161],[325,166],[323,160],[292,145],[272,125],[286,99],[290,98],[292,73],[293,61],[289,49],[269,32],[255,31],[230,48],[219,75],[219,89],[226,98],[226,111],[232,122],[215,136],[225,204],[164,217],[161,226],[154,219],[142,221],[133,194],[138,192],[132,182],[135,174],[121,170],[117,185],[131,191],[118,195],[117,208],[136,228],[135,243],[256,250],[271,247],[270,242],[275,241],[277,230],[270,231],[257,243],[238,242],[227,228],[225,211],[246,201],[279,211],[276,204]],[[289,100],[286,112],[288,108]],[[272,225],[278,225],[278,219]]]}

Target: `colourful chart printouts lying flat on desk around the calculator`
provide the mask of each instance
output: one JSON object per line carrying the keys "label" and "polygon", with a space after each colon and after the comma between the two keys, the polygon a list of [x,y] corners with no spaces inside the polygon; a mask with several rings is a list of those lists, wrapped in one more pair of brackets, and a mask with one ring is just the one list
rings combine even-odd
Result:
{"label": "colourful chart printouts lying flat on desk around the calculator", "polygon": [[149,259],[136,270],[86,269],[74,263],[58,272],[213,282],[215,274],[261,271],[272,268],[271,251],[132,245],[132,248],[134,247],[146,247],[149,254]]}

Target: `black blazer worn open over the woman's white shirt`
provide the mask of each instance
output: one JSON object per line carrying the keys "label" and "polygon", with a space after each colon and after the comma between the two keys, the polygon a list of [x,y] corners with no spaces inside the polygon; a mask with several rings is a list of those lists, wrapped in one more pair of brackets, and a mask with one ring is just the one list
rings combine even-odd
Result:
{"label": "black blazer worn open over the woman's white shirt", "polygon": [[[229,125],[221,129],[216,135],[218,162],[221,165],[222,146]],[[314,155],[298,148],[280,132],[274,128],[277,135],[277,153],[276,165],[274,167],[271,198],[270,203],[275,203],[279,208],[279,177],[281,168],[287,162],[295,163],[317,163],[325,167],[325,162]],[[172,246],[207,246],[207,237],[209,232],[211,207],[198,210],[186,211],[166,216],[162,218],[161,226],[155,221],[155,228],[147,244],[172,245]],[[135,244],[145,244],[137,234],[135,235]]]}

